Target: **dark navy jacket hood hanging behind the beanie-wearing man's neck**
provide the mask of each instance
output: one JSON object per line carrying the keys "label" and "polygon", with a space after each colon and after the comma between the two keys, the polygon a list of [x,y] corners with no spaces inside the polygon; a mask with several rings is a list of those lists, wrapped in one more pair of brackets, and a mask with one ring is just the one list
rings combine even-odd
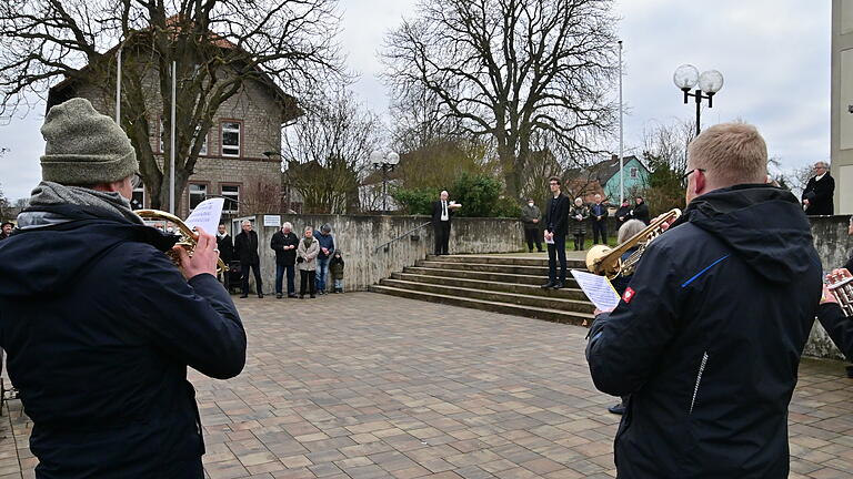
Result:
{"label": "dark navy jacket hood hanging behind the beanie-wearing man's neck", "polygon": [[167,251],[178,240],[104,211],[74,205],[27,210],[20,223],[28,227],[0,242],[0,296],[61,291],[120,243],[142,242]]}

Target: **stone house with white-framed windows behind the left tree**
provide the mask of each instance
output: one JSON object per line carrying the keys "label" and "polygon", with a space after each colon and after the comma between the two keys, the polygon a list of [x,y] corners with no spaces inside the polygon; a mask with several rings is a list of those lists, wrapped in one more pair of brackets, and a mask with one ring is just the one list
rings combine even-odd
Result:
{"label": "stone house with white-framed windows behind the left tree", "polygon": [[[162,165],[162,101],[157,72],[147,75],[151,91],[147,99],[149,142]],[[282,128],[301,114],[295,99],[270,79],[247,81],[239,93],[227,100],[213,118],[193,174],[182,192],[175,192],[175,214],[187,217],[210,196],[225,198],[223,216],[239,218],[259,213],[281,213]],[[48,109],[74,96],[82,96],[103,114],[114,116],[114,90],[67,79],[50,89]],[[168,159],[165,159],[168,161]],[[133,207],[149,207],[144,185],[133,193]],[[164,206],[165,210],[168,206]]]}

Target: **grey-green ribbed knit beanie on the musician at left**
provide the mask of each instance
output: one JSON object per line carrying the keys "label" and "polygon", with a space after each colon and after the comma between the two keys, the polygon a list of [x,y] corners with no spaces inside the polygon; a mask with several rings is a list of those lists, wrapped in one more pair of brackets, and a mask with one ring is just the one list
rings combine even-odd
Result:
{"label": "grey-green ribbed knit beanie on the musician at left", "polygon": [[128,135],[89,100],[76,98],[48,112],[41,134],[48,142],[41,157],[44,181],[94,185],[123,180],[139,171]]}

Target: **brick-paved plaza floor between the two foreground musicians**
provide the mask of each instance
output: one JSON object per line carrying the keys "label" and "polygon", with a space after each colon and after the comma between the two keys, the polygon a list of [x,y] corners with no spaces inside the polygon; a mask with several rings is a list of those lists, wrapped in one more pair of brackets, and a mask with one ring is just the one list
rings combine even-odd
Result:
{"label": "brick-paved plaza floor between the two foreground musicians", "polygon": [[[211,479],[609,478],[613,399],[585,329],[371,293],[237,299],[243,374],[191,375]],[[791,406],[792,478],[853,478],[853,380],[807,360]],[[33,477],[11,402],[0,479]],[[22,469],[22,472],[21,472]]]}

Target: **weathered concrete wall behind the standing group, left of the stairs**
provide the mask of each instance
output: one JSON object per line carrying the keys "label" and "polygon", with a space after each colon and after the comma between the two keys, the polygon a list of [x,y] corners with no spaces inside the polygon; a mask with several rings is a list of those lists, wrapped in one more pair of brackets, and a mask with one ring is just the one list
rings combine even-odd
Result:
{"label": "weathered concrete wall behind the standing group, left of the stairs", "polygon": [[[407,235],[387,249],[380,248],[383,243],[429,222],[426,216],[282,215],[281,221],[292,223],[293,232],[300,237],[305,226],[319,228],[329,223],[338,248],[343,253],[347,291],[364,291],[391,273],[414,265],[433,251],[431,225]],[[254,224],[259,234],[263,291],[271,294],[274,292],[275,256],[270,240],[279,228],[262,226],[262,215],[255,217]],[[516,220],[454,218],[450,252],[512,253],[520,251],[522,241]]]}

